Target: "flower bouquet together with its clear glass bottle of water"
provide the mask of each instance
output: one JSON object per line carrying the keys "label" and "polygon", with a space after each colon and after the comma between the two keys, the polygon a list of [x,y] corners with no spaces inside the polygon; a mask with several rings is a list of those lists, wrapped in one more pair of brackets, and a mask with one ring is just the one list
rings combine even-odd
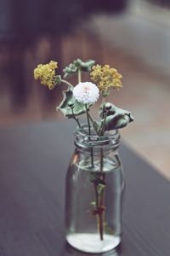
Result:
{"label": "flower bouquet together with its clear glass bottle of water", "polygon": [[[72,247],[87,253],[104,253],[116,247],[122,235],[122,192],[124,176],[117,152],[120,143],[118,129],[133,121],[127,110],[106,102],[111,89],[122,88],[122,75],[109,65],[77,59],[56,73],[58,63],[38,65],[34,78],[54,90],[65,84],[63,100],[57,110],[68,119],[75,119],[76,149],[66,176],[65,228],[66,240]],[[82,82],[82,72],[90,82]],[[77,75],[77,85],[67,79]],[[99,119],[90,113],[101,99]],[[80,120],[86,115],[87,122]]]}

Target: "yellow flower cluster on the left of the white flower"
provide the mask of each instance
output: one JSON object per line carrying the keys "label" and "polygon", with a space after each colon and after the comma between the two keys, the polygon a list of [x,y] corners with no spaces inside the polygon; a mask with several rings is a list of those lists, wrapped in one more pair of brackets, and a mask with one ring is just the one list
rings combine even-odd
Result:
{"label": "yellow flower cluster on the left of the white flower", "polygon": [[48,64],[39,64],[34,69],[34,79],[40,80],[41,84],[48,86],[49,90],[53,90],[55,86],[55,69],[58,63],[50,61]]}

